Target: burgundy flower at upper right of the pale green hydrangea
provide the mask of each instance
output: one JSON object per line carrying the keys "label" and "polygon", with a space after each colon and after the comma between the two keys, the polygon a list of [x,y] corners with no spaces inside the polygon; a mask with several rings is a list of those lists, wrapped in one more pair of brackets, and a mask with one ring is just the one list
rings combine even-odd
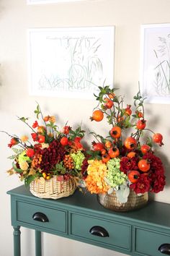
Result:
{"label": "burgundy flower at upper right of the pale green hydrangea", "polygon": [[120,171],[127,174],[127,172],[130,170],[138,170],[138,158],[128,158],[123,156],[120,160]]}

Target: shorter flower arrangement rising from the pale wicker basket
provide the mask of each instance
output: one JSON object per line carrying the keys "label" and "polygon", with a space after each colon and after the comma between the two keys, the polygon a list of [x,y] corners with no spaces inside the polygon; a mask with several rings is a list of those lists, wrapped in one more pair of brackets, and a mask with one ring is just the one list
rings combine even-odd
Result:
{"label": "shorter flower arrangement rising from the pale wicker basket", "polygon": [[37,119],[32,126],[28,118],[19,118],[31,129],[30,138],[6,132],[11,137],[8,146],[14,152],[9,157],[13,160],[9,174],[19,174],[26,185],[35,179],[49,180],[55,175],[58,181],[69,179],[70,176],[77,180],[81,178],[86,153],[81,144],[84,130],[81,127],[73,130],[66,124],[59,131],[55,116],[43,116],[39,104],[35,114]]}

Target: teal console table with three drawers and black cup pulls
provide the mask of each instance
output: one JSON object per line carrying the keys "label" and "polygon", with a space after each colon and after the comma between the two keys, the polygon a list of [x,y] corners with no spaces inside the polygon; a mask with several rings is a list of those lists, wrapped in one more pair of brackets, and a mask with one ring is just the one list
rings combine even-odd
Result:
{"label": "teal console table with three drawers and black cup pulls", "polygon": [[[35,255],[42,255],[41,232],[63,236],[125,255],[170,255],[170,205],[149,202],[145,208],[115,213],[95,195],[76,191],[70,197],[45,200],[24,186],[8,192],[14,227],[14,256],[20,256],[20,226],[35,229]],[[59,255],[58,255],[59,256]]]}

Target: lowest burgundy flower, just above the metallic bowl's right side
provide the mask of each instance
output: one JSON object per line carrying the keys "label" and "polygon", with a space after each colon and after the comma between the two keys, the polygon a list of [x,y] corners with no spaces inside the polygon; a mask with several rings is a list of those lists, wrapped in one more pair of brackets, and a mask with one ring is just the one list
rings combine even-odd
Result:
{"label": "lowest burgundy flower, just above the metallic bowl's right side", "polygon": [[150,187],[151,179],[147,174],[140,174],[137,182],[130,184],[130,189],[133,189],[136,194],[148,192]]}

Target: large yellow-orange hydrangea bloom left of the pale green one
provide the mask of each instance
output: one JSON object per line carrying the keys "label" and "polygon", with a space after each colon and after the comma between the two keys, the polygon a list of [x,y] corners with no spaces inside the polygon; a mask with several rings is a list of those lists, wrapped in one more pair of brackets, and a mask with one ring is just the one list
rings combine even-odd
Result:
{"label": "large yellow-orange hydrangea bloom left of the pale green one", "polygon": [[90,160],[88,163],[88,176],[85,180],[87,189],[91,194],[107,192],[109,186],[104,181],[104,177],[107,176],[107,166],[101,160]]}

